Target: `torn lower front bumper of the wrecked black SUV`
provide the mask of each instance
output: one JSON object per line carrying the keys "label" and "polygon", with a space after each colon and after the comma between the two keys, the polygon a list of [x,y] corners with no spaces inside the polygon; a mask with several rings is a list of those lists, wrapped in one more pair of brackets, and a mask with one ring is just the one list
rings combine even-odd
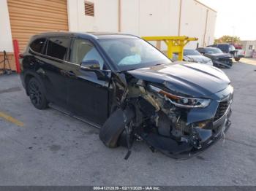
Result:
{"label": "torn lower front bumper of the wrecked black SUV", "polygon": [[211,147],[230,128],[231,115],[230,106],[227,112],[216,122],[212,122],[211,127],[193,128],[194,134],[184,137],[181,141],[170,139],[170,137],[159,136],[156,133],[144,133],[142,139],[146,141],[152,151],[159,150],[163,154],[176,159],[187,159],[198,155],[208,147]]}

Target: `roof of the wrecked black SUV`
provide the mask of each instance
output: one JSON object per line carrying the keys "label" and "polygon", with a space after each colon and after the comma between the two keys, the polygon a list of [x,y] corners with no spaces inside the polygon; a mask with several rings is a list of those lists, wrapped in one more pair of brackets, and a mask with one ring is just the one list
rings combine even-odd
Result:
{"label": "roof of the wrecked black SUV", "polygon": [[54,31],[37,34],[35,36],[79,36],[92,39],[124,39],[124,38],[138,38],[138,36],[132,34],[119,34],[109,32],[65,32]]}

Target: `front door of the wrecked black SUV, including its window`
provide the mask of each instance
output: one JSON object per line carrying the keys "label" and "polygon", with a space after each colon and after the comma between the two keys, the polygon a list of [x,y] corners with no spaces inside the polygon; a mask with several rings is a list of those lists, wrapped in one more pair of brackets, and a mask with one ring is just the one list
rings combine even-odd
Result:
{"label": "front door of the wrecked black SUV, including its window", "polygon": [[100,71],[108,76],[110,71],[97,48],[86,39],[73,39],[68,76],[68,106],[80,117],[102,125],[108,118],[109,81],[98,79],[95,71],[80,68],[82,61],[98,61]]}

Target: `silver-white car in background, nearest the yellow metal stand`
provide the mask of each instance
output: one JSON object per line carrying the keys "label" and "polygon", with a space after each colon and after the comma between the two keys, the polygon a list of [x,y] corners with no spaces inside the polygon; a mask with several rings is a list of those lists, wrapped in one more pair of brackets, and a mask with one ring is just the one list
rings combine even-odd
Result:
{"label": "silver-white car in background, nearest the yellow metal stand", "polygon": [[200,52],[194,49],[184,49],[183,59],[187,62],[203,63],[208,66],[213,66],[211,58],[201,55]]}

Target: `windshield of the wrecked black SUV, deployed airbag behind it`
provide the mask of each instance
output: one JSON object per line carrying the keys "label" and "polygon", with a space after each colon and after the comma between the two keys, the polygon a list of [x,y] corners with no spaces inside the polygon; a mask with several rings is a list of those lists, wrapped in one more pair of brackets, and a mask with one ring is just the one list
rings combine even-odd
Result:
{"label": "windshield of the wrecked black SUV, deployed airbag behind it", "polygon": [[99,44],[121,71],[171,63],[162,52],[143,39],[100,39]]}

